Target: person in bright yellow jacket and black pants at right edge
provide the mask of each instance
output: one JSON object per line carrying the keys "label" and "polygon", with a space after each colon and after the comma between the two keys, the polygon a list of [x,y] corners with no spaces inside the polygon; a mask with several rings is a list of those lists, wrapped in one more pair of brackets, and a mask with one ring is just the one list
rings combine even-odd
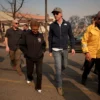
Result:
{"label": "person in bright yellow jacket and black pants at right edge", "polygon": [[86,59],[82,84],[86,85],[87,76],[95,63],[98,70],[98,93],[100,94],[100,11],[96,15],[95,24],[87,27],[81,43]]}

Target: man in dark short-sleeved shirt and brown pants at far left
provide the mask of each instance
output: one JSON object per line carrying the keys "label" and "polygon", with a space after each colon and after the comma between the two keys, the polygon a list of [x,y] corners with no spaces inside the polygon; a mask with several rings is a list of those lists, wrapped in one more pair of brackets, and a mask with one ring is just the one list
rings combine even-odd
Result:
{"label": "man in dark short-sleeved shirt and brown pants at far left", "polygon": [[19,75],[22,75],[20,68],[21,51],[19,49],[19,40],[21,38],[22,30],[18,28],[18,20],[12,21],[12,27],[9,28],[5,35],[6,51],[10,55],[11,65],[17,70]]}

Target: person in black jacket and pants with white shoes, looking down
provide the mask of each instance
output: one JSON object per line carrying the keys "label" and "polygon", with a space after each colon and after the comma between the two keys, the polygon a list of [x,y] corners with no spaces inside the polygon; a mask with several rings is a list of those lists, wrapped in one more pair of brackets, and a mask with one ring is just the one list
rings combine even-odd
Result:
{"label": "person in black jacket and pants with white shoes, looking down", "polygon": [[24,53],[27,66],[27,83],[31,83],[33,80],[34,64],[36,65],[37,82],[36,89],[41,93],[42,84],[42,64],[43,56],[46,49],[46,43],[43,35],[38,32],[39,23],[32,20],[30,23],[31,30],[26,34],[22,34],[20,41],[20,49]]}

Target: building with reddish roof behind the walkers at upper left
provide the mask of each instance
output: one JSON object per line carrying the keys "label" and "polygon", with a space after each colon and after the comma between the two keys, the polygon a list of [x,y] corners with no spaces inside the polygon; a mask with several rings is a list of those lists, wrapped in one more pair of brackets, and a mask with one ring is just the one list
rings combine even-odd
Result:
{"label": "building with reddish roof behind the walkers at upper left", "polygon": [[[44,26],[45,25],[45,16],[17,13],[16,18],[20,22],[20,27],[23,26],[25,23],[29,24],[30,20],[34,19],[34,20],[37,20],[40,23],[42,23],[42,25],[43,25],[42,27],[45,28],[45,26]],[[13,20],[13,18],[11,17],[11,13],[0,11],[0,27],[2,30],[6,31],[6,29],[8,29],[11,26],[12,20]],[[48,17],[48,27],[49,27],[49,24],[52,23],[53,21],[54,21],[53,17]]]}

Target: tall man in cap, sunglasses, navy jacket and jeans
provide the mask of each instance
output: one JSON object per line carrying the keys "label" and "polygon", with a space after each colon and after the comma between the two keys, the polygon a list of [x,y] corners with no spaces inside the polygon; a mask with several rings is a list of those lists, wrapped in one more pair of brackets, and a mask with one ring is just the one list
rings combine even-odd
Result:
{"label": "tall man in cap, sunglasses, navy jacket and jeans", "polygon": [[72,34],[70,23],[62,18],[62,9],[56,7],[52,11],[52,14],[54,15],[56,21],[50,25],[49,55],[52,56],[53,53],[56,69],[57,90],[60,95],[63,95],[61,70],[67,67],[68,39],[71,42],[72,54],[75,54],[74,36]]}

